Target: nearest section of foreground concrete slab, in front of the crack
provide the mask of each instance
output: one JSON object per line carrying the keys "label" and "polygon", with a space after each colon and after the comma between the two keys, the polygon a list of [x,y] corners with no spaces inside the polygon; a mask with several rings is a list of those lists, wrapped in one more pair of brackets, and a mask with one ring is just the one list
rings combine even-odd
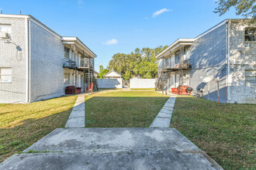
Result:
{"label": "nearest section of foreground concrete slab, in front of the crack", "polygon": [[[12,164],[16,162],[15,164]],[[29,167],[29,168],[28,168]],[[161,151],[48,153],[15,155],[2,169],[216,169],[200,154]]]}

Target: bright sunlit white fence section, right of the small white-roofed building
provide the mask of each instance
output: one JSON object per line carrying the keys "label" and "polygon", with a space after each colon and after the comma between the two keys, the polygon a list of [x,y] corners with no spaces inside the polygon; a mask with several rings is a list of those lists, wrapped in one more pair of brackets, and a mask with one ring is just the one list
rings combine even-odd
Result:
{"label": "bright sunlit white fence section, right of the small white-roofed building", "polygon": [[130,79],[130,88],[154,88],[155,79]]}

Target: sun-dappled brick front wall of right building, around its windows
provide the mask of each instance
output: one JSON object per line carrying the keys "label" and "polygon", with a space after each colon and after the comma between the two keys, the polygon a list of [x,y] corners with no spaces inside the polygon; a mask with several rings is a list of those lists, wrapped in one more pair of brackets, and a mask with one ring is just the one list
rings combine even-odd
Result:
{"label": "sun-dappled brick front wall of right building, around its windows", "polygon": [[256,87],[247,87],[244,77],[244,70],[256,70],[256,43],[250,43],[251,51],[244,51],[247,26],[245,22],[230,24],[230,102],[256,103]]}

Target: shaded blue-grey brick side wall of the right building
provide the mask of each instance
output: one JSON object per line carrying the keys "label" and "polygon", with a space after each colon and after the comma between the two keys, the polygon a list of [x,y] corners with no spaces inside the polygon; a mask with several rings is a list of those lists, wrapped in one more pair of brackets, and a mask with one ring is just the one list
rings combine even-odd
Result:
{"label": "shaded blue-grey brick side wall of the right building", "polygon": [[[227,25],[220,26],[205,36],[196,39],[191,46],[189,62],[192,65],[190,71],[191,87],[194,90],[204,89],[204,98],[208,98],[208,86],[202,83],[201,77],[206,73],[210,76],[220,77],[220,102],[225,102],[227,82]],[[209,83],[209,100],[218,100],[217,84]]]}

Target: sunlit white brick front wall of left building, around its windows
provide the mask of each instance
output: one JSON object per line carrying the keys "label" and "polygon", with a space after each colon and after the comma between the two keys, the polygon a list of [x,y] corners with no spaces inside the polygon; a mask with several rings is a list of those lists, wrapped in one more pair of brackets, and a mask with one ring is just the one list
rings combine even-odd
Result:
{"label": "sunlit white brick front wall of left building, around its windows", "polygon": [[12,67],[12,83],[0,82],[0,103],[26,102],[26,32],[25,19],[0,18],[0,24],[12,27],[12,42],[21,47],[18,52],[14,44],[0,40],[0,67]]}

